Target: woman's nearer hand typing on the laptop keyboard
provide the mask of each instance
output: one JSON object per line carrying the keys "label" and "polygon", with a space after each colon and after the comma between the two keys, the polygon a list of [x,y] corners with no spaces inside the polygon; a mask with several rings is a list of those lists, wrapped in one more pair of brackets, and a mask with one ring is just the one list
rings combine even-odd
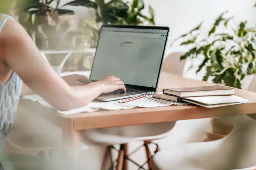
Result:
{"label": "woman's nearer hand typing on the laptop keyboard", "polygon": [[100,82],[104,88],[103,93],[110,93],[118,89],[123,89],[124,92],[126,90],[123,81],[116,76],[103,77],[99,79],[98,82]]}

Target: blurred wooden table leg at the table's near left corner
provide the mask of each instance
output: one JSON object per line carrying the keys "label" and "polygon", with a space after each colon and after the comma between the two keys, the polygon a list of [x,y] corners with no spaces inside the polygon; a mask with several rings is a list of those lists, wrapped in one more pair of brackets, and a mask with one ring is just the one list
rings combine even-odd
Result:
{"label": "blurred wooden table leg at the table's near left corner", "polygon": [[[62,129],[62,144],[65,169],[78,170],[79,149],[82,133],[85,131],[73,130],[73,122],[66,122]],[[70,167],[70,168],[67,168]]]}

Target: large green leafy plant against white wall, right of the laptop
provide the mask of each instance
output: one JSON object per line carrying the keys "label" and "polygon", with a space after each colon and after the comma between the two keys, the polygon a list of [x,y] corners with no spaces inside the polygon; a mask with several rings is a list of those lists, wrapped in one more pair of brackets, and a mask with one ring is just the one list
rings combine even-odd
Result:
{"label": "large green leafy plant against white wall, right of the laptop", "polygon": [[[211,77],[214,83],[241,89],[241,80],[256,73],[256,27],[248,27],[246,21],[236,25],[233,17],[224,16],[226,13],[216,19],[209,31],[203,28],[201,22],[178,38],[186,38],[181,45],[193,45],[181,56],[181,60],[202,57],[203,62],[196,73],[206,67],[204,81]],[[224,33],[215,33],[220,26],[225,28]],[[231,33],[228,30],[232,30]]]}

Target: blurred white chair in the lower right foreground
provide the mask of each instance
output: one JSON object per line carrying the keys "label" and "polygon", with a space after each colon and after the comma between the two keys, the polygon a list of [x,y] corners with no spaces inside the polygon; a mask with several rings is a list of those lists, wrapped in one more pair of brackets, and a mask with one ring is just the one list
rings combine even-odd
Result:
{"label": "blurred white chair in the lower right foreground", "polygon": [[[256,76],[248,90],[256,92],[255,85]],[[220,140],[161,150],[153,157],[154,170],[255,170],[256,121],[247,115],[237,117],[233,130]]]}

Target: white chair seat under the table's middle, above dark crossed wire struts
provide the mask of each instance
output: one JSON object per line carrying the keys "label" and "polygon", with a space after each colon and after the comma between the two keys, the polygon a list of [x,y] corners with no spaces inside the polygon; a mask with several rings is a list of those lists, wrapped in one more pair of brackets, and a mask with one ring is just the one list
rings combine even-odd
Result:
{"label": "white chair seat under the table's middle, above dark crossed wire struts", "polygon": [[92,145],[152,141],[168,136],[176,122],[87,130],[83,142]]}

